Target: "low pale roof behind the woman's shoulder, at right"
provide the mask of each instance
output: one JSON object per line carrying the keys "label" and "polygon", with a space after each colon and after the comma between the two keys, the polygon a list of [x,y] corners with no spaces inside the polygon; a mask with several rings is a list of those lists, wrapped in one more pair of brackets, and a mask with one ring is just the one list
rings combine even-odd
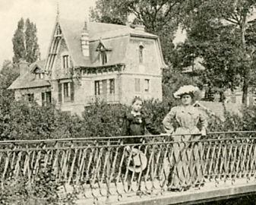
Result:
{"label": "low pale roof behind the woman's shoulder, at right", "polygon": [[215,115],[221,121],[225,121],[225,111],[231,114],[241,115],[240,110],[242,109],[242,104],[239,103],[197,101],[194,103],[194,106],[203,109],[207,115]]}

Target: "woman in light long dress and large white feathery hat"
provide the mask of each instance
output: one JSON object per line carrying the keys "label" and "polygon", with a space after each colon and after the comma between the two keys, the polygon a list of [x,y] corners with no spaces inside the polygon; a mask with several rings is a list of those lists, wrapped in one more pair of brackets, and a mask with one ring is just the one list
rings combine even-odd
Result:
{"label": "woman in light long dress and large white feathery hat", "polygon": [[[174,93],[181,99],[181,105],[175,106],[163,119],[163,126],[174,140],[172,155],[172,172],[169,180],[170,191],[188,190],[191,186],[203,184],[203,165],[201,162],[201,143],[193,143],[206,135],[207,121],[204,114],[192,106],[194,94],[198,87],[184,86]],[[174,131],[172,121],[178,122]],[[198,124],[201,122],[201,130]],[[194,154],[193,154],[194,153]]]}

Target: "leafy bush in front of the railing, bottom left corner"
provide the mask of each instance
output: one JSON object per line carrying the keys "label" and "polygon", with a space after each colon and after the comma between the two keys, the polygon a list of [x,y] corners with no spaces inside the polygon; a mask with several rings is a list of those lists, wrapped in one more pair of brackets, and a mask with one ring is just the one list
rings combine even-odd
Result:
{"label": "leafy bush in front of the railing, bottom left corner", "polygon": [[0,203],[9,204],[75,204],[76,189],[65,194],[64,185],[55,180],[55,175],[50,168],[51,165],[40,167],[35,181],[30,185],[26,178],[8,178],[1,181]]}

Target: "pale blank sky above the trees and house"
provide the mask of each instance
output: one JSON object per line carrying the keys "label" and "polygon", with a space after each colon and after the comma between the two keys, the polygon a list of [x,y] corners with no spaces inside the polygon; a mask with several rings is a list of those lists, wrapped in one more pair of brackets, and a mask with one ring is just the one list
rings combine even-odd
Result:
{"label": "pale blank sky above the trees and house", "polygon": [[[37,27],[38,44],[41,58],[46,58],[49,41],[55,23],[57,11],[60,17],[85,20],[89,8],[96,0],[0,0],[0,68],[3,61],[14,56],[11,39],[21,17],[30,19]],[[183,41],[185,33],[179,30],[175,43]]]}

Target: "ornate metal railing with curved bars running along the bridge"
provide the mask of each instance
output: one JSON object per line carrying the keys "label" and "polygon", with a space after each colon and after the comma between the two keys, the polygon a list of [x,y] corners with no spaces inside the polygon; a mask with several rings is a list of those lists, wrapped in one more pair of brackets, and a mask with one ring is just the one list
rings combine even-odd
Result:
{"label": "ornate metal railing with curved bars running along the bridge", "polygon": [[[146,139],[126,140],[134,137]],[[256,177],[256,131],[0,141],[0,180],[27,178],[32,185],[42,173],[66,191],[78,188],[86,204],[141,190],[157,195],[237,179],[245,185]]]}

